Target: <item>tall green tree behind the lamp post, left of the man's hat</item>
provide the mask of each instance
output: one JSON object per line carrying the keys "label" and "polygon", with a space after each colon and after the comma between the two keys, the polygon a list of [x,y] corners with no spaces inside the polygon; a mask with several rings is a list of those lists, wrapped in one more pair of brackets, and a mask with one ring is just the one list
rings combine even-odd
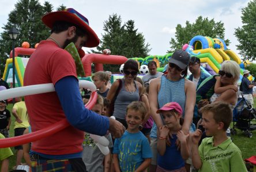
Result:
{"label": "tall green tree behind the lamp post, left of the man's hat", "polygon": [[27,41],[31,47],[34,47],[36,43],[46,39],[50,34],[50,29],[41,20],[44,14],[52,11],[52,5],[49,2],[44,2],[42,6],[37,0],[20,0],[14,7],[9,13],[7,24],[2,27],[3,32],[0,37],[1,71],[4,70],[4,64],[12,50],[12,40],[8,34],[10,28],[15,27],[19,32],[16,46],[21,46],[22,42]]}

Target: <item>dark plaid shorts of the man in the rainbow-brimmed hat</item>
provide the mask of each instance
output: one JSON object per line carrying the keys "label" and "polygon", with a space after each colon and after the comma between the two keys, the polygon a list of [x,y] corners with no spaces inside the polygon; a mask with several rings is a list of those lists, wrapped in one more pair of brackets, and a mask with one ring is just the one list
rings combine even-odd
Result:
{"label": "dark plaid shorts of the man in the rainbow-brimmed hat", "polygon": [[34,171],[86,171],[82,158],[47,159],[40,155],[31,155],[31,169]]}

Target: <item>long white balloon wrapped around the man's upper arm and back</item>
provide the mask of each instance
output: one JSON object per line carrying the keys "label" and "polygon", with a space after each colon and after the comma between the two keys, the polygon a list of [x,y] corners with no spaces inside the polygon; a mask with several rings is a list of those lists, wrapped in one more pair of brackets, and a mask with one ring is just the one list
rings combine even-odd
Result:
{"label": "long white balloon wrapped around the man's upper arm and back", "polygon": [[[96,91],[95,84],[93,84],[90,81],[79,80],[79,87],[89,88],[92,92]],[[12,99],[14,97],[35,95],[35,94],[54,92],[54,91],[55,91],[55,88],[52,83],[5,89],[0,91],[0,101],[6,100],[6,99]]]}

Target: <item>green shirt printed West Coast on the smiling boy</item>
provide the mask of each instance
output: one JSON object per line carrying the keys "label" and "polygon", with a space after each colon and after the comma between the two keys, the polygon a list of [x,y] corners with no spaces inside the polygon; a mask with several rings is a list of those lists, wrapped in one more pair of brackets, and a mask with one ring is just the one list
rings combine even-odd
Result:
{"label": "green shirt printed West Coast on the smiling boy", "polygon": [[205,138],[199,146],[199,155],[202,161],[201,171],[247,171],[241,151],[230,138],[220,145],[213,146],[213,137]]}

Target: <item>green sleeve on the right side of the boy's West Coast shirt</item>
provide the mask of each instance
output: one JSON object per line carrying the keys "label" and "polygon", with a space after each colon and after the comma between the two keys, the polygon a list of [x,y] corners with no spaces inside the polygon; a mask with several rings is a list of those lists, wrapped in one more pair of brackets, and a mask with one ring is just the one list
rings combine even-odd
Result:
{"label": "green sleeve on the right side of the boy's West Coast shirt", "polygon": [[229,161],[230,161],[229,171],[232,171],[232,172],[247,171],[246,166],[244,165],[240,150],[234,151]]}

